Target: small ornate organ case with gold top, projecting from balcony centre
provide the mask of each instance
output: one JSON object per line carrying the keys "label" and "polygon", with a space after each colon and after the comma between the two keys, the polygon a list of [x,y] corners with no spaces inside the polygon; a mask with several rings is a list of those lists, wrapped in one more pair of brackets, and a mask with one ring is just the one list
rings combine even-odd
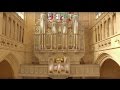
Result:
{"label": "small ornate organ case with gold top, projecting from balcony centre", "polygon": [[49,60],[49,74],[69,74],[70,65],[66,57],[55,57]]}

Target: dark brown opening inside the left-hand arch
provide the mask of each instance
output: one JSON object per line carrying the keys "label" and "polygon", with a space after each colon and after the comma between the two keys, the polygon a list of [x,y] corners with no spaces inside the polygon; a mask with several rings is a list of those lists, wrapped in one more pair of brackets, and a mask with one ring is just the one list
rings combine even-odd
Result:
{"label": "dark brown opening inside the left-hand arch", "polygon": [[6,61],[3,60],[0,63],[0,79],[13,79],[14,72],[11,65]]}

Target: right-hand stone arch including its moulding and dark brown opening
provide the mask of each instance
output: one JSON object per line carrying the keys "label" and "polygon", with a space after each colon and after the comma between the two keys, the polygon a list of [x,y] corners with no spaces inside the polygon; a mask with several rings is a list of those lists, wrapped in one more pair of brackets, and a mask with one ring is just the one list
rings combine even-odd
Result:
{"label": "right-hand stone arch including its moulding and dark brown opening", "polygon": [[100,78],[101,79],[118,79],[120,78],[120,63],[118,57],[108,53],[101,53],[96,64],[100,65]]}

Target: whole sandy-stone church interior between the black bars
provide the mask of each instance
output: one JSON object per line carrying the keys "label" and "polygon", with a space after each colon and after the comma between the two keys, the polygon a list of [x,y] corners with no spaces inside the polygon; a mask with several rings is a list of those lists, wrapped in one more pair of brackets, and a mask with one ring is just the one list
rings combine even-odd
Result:
{"label": "whole sandy-stone church interior between the black bars", "polygon": [[120,79],[120,12],[0,12],[0,79]]}

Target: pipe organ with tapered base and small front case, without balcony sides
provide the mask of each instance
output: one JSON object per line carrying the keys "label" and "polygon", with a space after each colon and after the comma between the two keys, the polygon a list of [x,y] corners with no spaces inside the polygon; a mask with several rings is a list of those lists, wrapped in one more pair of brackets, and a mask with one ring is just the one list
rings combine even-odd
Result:
{"label": "pipe organ with tapered base and small front case, without balcony sides", "polygon": [[34,54],[38,63],[48,65],[50,76],[68,76],[70,67],[79,65],[84,55],[79,13],[41,13],[35,20]]}

